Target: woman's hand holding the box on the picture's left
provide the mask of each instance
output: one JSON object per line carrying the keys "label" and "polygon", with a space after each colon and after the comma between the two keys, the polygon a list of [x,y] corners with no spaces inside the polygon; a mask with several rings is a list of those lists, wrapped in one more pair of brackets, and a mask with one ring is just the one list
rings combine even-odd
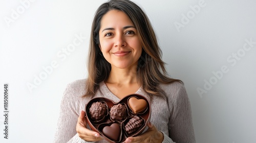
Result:
{"label": "woman's hand holding the box on the picture's left", "polygon": [[86,118],[84,117],[86,113],[84,111],[81,111],[78,121],[76,124],[76,132],[78,133],[79,137],[86,141],[98,141],[102,138],[99,137],[99,133],[89,130],[86,128]]}

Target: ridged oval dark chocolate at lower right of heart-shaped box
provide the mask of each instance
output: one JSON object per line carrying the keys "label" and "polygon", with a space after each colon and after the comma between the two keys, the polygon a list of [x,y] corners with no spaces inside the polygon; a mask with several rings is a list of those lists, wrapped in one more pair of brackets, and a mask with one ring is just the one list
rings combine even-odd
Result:
{"label": "ridged oval dark chocolate at lower right of heart-shaped box", "polygon": [[144,124],[144,121],[139,116],[135,115],[130,121],[124,126],[127,134],[132,134],[140,129]]}

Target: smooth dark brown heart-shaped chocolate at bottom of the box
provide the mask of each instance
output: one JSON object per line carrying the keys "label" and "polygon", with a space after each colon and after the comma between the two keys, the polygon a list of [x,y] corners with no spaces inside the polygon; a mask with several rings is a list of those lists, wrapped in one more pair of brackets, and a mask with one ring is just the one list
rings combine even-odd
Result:
{"label": "smooth dark brown heart-shaped chocolate at bottom of the box", "polygon": [[120,134],[121,134],[121,127],[119,126],[119,124],[117,123],[113,123],[111,126],[105,126],[102,129],[102,133],[115,141],[118,141],[120,138]]}

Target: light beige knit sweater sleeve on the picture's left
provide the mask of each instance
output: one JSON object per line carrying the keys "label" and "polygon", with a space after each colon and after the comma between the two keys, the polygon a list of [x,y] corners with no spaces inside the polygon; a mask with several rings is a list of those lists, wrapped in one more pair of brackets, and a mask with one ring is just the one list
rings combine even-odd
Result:
{"label": "light beige knit sweater sleeve on the picture's left", "polygon": [[81,139],[76,132],[76,124],[81,108],[81,91],[75,83],[68,84],[60,104],[59,119],[55,132],[55,143],[81,142],[87,141]]}

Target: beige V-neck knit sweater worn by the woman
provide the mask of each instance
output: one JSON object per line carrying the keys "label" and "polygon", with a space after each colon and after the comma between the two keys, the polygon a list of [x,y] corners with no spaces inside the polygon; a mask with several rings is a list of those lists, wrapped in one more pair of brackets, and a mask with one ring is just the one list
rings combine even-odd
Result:
{"label": "beige V-neck knit sweater worn by the woman", "polygon": [[[88,142],[81,139],[76,132],[76,123],[81,110],[91,99],[81,98],[86,91],[86,80],[77,80],[68,84],[60,105],[60,114],[55,133],[54,142]],[[151,103],[151,123],[164,134],[164,143],[194,143],[196,142],[189,99],[183,84],[161,84],[167,100],[161,97],[150,97],[140,88],[136,93],[146,97]],[[100,92],[101,91],[101,92]],[[119,102],[105,85],[100,84],[100,91],[95,97],[104,97]],[[167,103],[168,102],[168,103]],[[105,140],[96,141],[107,142]]]}

